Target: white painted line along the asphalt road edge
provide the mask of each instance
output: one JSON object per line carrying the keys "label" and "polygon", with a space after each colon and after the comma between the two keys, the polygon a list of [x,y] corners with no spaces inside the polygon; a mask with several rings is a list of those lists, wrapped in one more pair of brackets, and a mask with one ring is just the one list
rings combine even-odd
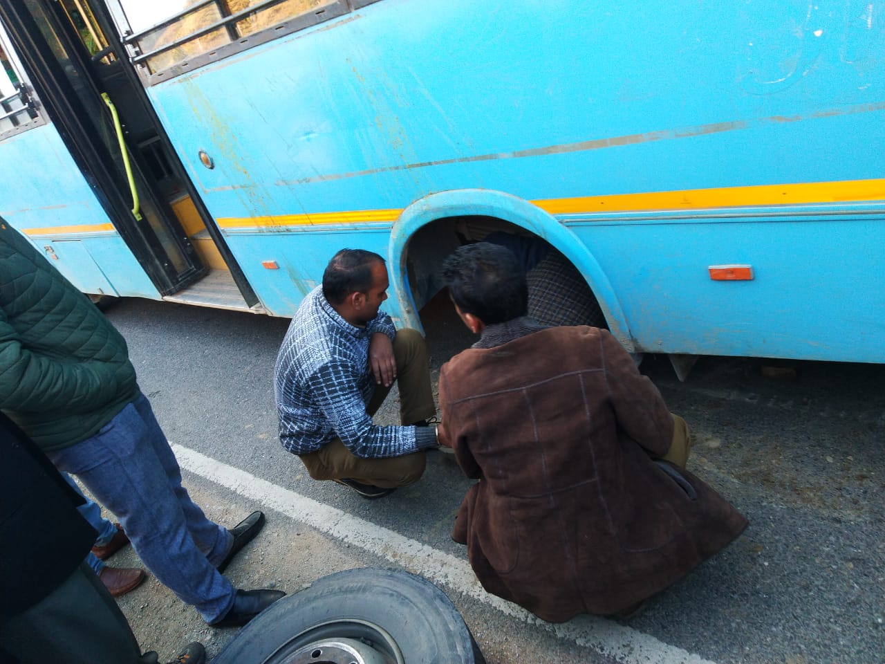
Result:
{"label": "white painted line along the asphalt road edge", "polygon": [[258,501],[329,537],[365,549],[434,583],[494,606],[503,614],[547,629],[557,637],[586,646],[613,660],[624,664],[714,664],[604,618],[580,616],[561,624],[543,622],[525,609],[484,591],[466,560],[283,489],[187,447],[173,445],[173,450],[181,467],[191,473]]}

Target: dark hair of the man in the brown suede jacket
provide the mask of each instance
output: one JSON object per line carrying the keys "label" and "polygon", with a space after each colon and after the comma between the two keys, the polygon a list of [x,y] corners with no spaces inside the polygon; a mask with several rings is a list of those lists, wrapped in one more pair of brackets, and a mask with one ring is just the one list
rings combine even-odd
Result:
{"label": "dark hair of the man in the brown suede jacket", "polygon": [[443,280],[458,309],[486,325],[527,313],[526,275],[513,252],[499,244],[460,247],[443,261]]}

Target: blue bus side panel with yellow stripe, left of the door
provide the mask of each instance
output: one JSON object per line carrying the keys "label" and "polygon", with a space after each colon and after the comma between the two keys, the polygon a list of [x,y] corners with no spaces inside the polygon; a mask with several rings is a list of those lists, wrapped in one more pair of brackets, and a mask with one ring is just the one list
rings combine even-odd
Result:
{"label": "blue bus side panel with yellow stripe, left of the door", "polygon": [[85,293],[160,295],[51,124],[0,141],[0,216]]}

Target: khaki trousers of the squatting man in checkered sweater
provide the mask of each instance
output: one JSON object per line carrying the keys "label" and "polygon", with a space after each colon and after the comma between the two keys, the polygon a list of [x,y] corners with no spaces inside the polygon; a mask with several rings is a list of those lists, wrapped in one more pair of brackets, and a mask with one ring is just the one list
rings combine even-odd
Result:
{"label": "khaki trousers of the squatting man in checkered sweater", "polygon": [[[396,382],[399,385],[400,423],[408,425],[432,417],[436,413],[436,406],[430,387],[430,365],[424,337],[415,329],[397,330],[393,354],[396,358]],[[375,387],[372,398],[366,405],[366,413],[370,417],[378,411],[389,392],[389,387]],[[315,480],[348,478],[392,489],[418,482],[424,474],[424,455],[424,452],[415,452],[402,457],[360,459],[350,453],[341,438],[335,438],[317,452],[301,455],[300,459]]]}

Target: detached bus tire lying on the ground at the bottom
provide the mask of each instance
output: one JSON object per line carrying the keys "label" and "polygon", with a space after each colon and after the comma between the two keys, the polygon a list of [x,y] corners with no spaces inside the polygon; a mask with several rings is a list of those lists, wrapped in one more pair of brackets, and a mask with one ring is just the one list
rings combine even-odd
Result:
{"label": "detached bus tire lying on the ground at the bottom", "polygon": [[212,664],[485,664],[458,609],[433,583],[365,567],[273,603]]}

